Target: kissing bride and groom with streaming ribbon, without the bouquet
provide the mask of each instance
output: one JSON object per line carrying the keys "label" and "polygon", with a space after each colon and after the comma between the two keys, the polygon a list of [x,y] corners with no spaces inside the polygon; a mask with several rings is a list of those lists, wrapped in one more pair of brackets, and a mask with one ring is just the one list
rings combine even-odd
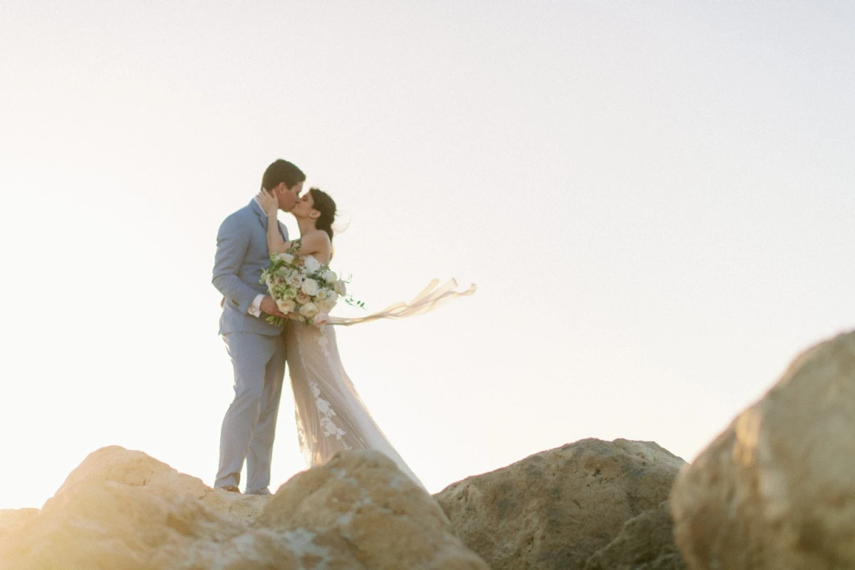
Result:
{"label": "kissing bride and groom with streaming ribbon, without the bouquet", "polygon": [[[276,419],[286,367],[291,379],[300,450],[309,467],[342,450],[377,450],[424,489],[404,459],[374,422],[345,373],[333,325],[422,314],[451,297],[451,280],[436,290],[436,281],[411,303],[395,303],[357,319],[317,314],[312,324],[282,313],[261,283],[271,256],[297,251],[325,267],[333,256],[336,206],[325,191],[303,191],[305,174],[291,162],[277,160],[262,176],[261,191],[229,215],[217,233],[212,282],[224,297],[220,334],[234,372],[234,397],[222,421],[220,462],[215,488],[239,492],[246,463],[245,492],[270,494],[270,464]],[[278,210],[297,220],[300,238],[289,240]],[[280,317],[270,319],[268,317]],[[273,321],[273,322],[270,322]]]}

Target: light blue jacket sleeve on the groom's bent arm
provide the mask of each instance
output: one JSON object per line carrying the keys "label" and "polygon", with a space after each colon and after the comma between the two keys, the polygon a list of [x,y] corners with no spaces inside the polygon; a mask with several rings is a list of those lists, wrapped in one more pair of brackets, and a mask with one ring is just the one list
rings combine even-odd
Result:
{"label": "light blue jacket sleeve on the groom's bent arm", "polygon": [[240,266],[250,247],[250,234],[241,232],[239,221],[237,216],[229,216],[217,232],[214,277],[211,282],[217,291],[238,306],[241,313],[246,313],[258,291],[238,277]]}

